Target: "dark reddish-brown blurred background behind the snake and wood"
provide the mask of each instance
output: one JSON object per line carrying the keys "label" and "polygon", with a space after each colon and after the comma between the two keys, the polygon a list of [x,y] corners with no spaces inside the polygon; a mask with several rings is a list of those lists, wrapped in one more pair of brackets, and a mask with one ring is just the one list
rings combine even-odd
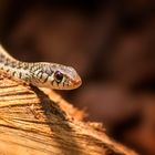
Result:
{"label": "dark reddish-brown blurred background behind the snake and wood", "polygon": [[59,93],[116,141],[155,155],[154,0],[1,0],[0,42],[20,60],[75,68],[83,85]]}

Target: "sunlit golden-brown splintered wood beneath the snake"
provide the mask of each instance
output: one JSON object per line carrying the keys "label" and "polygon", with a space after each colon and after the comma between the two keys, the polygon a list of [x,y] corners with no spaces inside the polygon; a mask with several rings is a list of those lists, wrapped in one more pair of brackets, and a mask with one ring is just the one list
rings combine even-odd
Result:
{"label": "sunlit golden-brown splintered wood beneath the snake", "polygon": [[0,154],[135,155],[107,137],[100,123],[48,89],[0,72]]}

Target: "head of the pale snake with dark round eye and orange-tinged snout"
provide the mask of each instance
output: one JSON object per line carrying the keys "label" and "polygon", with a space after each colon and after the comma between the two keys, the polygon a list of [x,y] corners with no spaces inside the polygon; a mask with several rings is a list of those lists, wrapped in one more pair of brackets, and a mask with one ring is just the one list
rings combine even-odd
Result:
{"label": "head of the pale snake with dark round eye and orange-tinged snout", "polygon": [[80,75],[72,66],[44,63],[41,69],[42,81],[40,82],[40,86],[54,90],[73,90],[82,84]]}

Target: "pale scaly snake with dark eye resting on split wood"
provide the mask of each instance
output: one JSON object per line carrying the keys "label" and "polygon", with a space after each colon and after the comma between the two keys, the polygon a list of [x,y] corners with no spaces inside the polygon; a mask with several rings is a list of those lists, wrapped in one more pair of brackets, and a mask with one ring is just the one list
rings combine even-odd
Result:
{"label": "pale scaly snake with dark eye resting on split wood", "polygon": [[59,63],[23,62],[14,59],[0,44],[0,70],[38,87],[73,90],[82,84],[75,69]]}

